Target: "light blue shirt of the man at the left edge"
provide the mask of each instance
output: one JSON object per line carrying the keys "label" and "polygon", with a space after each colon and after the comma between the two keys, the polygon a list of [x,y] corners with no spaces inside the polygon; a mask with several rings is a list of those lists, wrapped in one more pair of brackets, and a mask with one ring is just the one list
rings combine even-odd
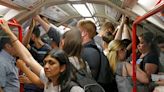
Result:
{"label": "light blue shirt of the man at the left edge", "polygon": [[19,92],[16,59],[5,50],[0,52],[0,86],[4,92]]}

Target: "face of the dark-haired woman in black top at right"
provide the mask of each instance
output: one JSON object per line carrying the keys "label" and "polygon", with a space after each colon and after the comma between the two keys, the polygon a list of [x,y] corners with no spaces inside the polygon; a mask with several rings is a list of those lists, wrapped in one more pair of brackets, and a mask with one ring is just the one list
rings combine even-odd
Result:
{"label": "face of the dark-haired woman in black top at right", "polygon": [[137,48],[141,53],[145,53],[146,49],[148,48],[148,44],[144,41],[142,37],[138,37],[138,39],[139,39],[139,44]]}

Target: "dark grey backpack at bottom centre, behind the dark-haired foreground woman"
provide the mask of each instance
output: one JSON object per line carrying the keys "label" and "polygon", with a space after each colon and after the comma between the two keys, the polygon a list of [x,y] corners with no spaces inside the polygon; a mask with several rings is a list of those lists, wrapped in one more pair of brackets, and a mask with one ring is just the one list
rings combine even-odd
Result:
{"label": "dark grey backpack at bottom centre, behind the dark-haired foreground woman", "polygon": [[71,80],[68,86],[62,92],[70,92],[73,86],[80,86],[85,92],[105,92],[103,87],[99,85],[93,78],[89,77],[85,69],[77,70],[73,65],[73,70],[76,70],[75,79]]}

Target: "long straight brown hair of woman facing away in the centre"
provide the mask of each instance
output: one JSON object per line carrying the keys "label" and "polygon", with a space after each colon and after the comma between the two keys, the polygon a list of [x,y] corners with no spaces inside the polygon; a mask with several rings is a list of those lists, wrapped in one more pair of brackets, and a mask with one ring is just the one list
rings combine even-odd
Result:
{"label": "long straight brown hair of woman facing away in the centre", "polygon": [[69,57],[76,56],[81,68],[84,68],[84,61],[81,60],[82,39],[80,31],[67,31],[63,34],[62,39],[64,39],[63,50],[67,53]]}

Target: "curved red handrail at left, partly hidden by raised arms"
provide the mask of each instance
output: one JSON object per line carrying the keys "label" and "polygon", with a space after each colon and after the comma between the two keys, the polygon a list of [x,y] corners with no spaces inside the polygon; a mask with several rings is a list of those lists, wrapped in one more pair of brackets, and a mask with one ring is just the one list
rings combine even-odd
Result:
{"label": "curved red handrail at left, partly hidden by raised arms", "polygon": [[[0,20],[0,23],[2,23],[2,20]],[[18,28],[18,36],[19,36],[19,41],[22,42],[22,27],[20,24],[15,19],[12,19],[10,22],[8,22],[9,26],[12,27],[17,27]],[[21,72],[19,72],[21,74]],[[20,84],[20,92],[24,91],[23,84]]]}

